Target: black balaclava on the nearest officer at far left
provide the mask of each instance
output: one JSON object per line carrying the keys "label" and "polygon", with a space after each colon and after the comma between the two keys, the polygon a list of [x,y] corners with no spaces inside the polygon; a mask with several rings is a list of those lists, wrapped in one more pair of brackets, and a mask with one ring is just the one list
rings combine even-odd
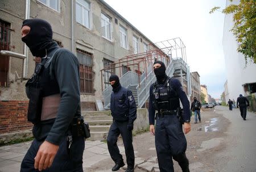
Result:
{"label": "black balaclava on the nearest officer at far left", "polygon": [[33,56],[46,56],[47,45],[52,42],[51,24],[42,19],[27,19],[23,21],[23,26],[30,27],[30,32],[22,37],[22,41],[30,48]]}

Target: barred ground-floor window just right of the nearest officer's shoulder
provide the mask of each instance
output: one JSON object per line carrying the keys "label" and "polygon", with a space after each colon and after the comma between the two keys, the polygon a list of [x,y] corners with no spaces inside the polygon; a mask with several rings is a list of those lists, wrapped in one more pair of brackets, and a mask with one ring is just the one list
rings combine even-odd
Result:
{"label": "barred ground-floor window just right of the nearest officer's shoulder", "polygon": [[92,53],[76,49],[79,60],[80,91],[81,93],[94,93]]}

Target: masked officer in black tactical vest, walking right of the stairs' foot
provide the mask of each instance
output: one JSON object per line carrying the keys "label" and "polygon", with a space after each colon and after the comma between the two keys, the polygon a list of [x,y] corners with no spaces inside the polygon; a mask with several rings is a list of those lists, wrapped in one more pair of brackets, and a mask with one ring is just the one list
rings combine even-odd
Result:
{"label": "masked officer in black tactical vest, walking right of the stairs' foot", "polygon": [[[191,129],[189,101],[179,80],[166,75],[162,61],[154,62],[156,82],[150,86],[148,117],[150,132],[155,135],[155,146],[159,169],[162,172],[174,171],[172,158],[177,161],[183,172],[188,172],[188,159],[185,156],[187,140],[185,134]],[[181,113],[180,100],[184,113]],[[158,111],[155,118],[155,111]],[[154,126],[156,119],[156,128]]]}

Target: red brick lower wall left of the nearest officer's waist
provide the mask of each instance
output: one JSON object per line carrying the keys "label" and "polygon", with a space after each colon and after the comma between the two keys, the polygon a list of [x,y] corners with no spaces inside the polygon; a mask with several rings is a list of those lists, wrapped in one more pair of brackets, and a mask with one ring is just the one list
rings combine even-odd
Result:
{"label": "red brick lower wall left of the nearest officer's waist", "polygon": [[0,134],[31,129],[32,123],[27,121],[28,101],[0,101]]}

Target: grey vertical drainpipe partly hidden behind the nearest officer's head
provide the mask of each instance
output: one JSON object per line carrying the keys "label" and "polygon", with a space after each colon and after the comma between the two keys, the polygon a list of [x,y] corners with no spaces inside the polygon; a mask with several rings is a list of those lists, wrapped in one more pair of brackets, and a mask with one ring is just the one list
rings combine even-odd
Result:
{"label": "grey vertical drainpipe partly hidden behind the nearest officer's head", "polygon": [[[26,14],[25,14],[25,19],[30,18],[30,0],[26,0]],[[24,55],[26,58],[23,61],[23,78],[27,78],[28,74],[28,47],[24,43]]]}

